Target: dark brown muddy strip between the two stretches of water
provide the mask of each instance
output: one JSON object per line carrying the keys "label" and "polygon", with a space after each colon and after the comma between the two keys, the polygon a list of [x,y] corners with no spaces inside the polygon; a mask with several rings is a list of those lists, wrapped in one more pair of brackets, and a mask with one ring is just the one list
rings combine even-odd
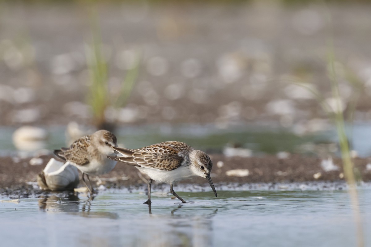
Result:
{"label": "dark brown muddy strip between the two stretches of water", "polygon": [[[49,191],[40,190],[36,183],[36,176],[46,166],[47,161],[52,155],[40,156],[43,162],[40,165],[30,165],[31,158],[13,158],[0,157],[0,195],[11,198],[39,197],[47,196]],[[335,190],[344,188],[344,177],[342,176],[341,159],[335,158],[334,164],[338,170],[325,171],[321,167],[321,159],[316,157],[307,157],[301,155],[291,155],[288,158],[278,158],[276,156],[264,157],[226,157],[221,154],[210,156],[213,160],[213,170],[211,177],[218,189],[235,189],[243,187],[247,190],[258,189],[259,186],[267,189],[279,189],[282,183],[293,184],[291,187],[301,188],[300,186],[309,186],[317,184],[318,189],[332,187]],[[14,162],[17,161],[17,162]],[[223,163],[223,166],[221,166]],[[371,170],[367,169],[368,159],[355,158],[355,173],[360,181],[371,181]],[[246,175],[243,177],[230,176],[230,170],[243,169]],[[229,171],[229,173],[227,173]],[[233,172],[232,172],[233,173]],[[238,173],[238,171],[237,171]],[[227,175],[229,174],[229,175]],[[233,174],[232,174],[233,175]],[[243,174],[242,174],[243,175]],[[128,189],[129,191],[145,189],[146,177],[139,174],[135,167],[118,164],[109,174],[100,177],[102,181],[92,177],[96,188],[103,189]],[[207,183],[203,178],[194,178],[184,180],[177,184],[187,187],[194,184],[194,188],[209,190]],[[264,184],[264,185],[259,185]],[[329,185],[330,184],[330,185]],[[79,186],[82,186],[80,183]],[[167,190],[168,185],[154,183],[155,190]],[[182,187],[182,188],[183,188]],[[286,188],[287,185],[282,188]],[[191,187],[187,187],[191,191]],[[68,192],[63,192],[68,194]]]}

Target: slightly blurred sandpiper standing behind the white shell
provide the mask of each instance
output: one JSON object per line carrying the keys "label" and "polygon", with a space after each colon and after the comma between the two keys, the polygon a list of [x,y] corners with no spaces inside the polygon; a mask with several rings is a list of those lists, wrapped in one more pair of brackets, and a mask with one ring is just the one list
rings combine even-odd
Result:
{"label": "slightly blurred sandpiper standing behind the white shell", "polygon": [[[93,189],[89,175],[102,175],[109,173],[116,162],[108,160],[107,155],[114,154],[112,147],[117,146],[117,139],[108,130],[98,130],[95,133],[83,136],[71,144],[69,148],[62,147],[54,150],[59,158],[69,161],[82,172],[82,181],[88,188],[91,196],[96,191]],[[85,182],[84,175],[88,178],[90,188]]]}

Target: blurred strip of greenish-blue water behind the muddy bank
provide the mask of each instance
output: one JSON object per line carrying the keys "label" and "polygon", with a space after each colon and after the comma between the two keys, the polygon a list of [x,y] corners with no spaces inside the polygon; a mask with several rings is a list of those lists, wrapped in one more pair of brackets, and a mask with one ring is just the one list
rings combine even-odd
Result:
{"label": "blurred strip of greenish-blue water behind the muddy bank", "polygon": [[[0,127],[0,156],[9,156],[16,153],[16,145],[12,143],[12,134],[15,130],[14,127]],[[65,126],[46,127],[46,130],[49,133],[49,138],[42,143],[43,146],[37,147],[35,143],[30,143],[30,145],[35,147],[36,150],[37,148],[52,150],[66,146]],[[352,137],[352,148],[358,152],[358,155],[360,157],[370,156],[370,124],[356,123],[352,128],[348,127],[348,132],[350,133],[349,136]],[[243,147],[251,149],[254,154],[276,154],[279,151],[311,153],[312,151],[301,150],[300,145],[337,142],[335,129],[297,136],[292,130],[277,127],[269,122],[229,129],[219,129],[212,125],[126,126],[118,128],[115,134],[118,137],[119,145],[130,146],[131,148],[144,147],[161,141],[179,140],[211,153],[219,153],[227,143],[241,144]],[[23,153],[23,156],[26,153]],[[32,152],[29,155],[32,155]]]}

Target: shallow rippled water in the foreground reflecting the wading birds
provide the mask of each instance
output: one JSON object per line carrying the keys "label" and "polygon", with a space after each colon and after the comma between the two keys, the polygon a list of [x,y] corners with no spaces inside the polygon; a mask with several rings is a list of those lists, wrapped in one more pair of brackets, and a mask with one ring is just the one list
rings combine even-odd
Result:
{"label": "shallow rippled water in the foreground reflecting the wading birds", "polygon": [[[359,190],[371,246],[371,189]],[[0,203],[2,246],[355,246],[347,191],[153,191]],[[6,200],[9,198],[2,198]]]}

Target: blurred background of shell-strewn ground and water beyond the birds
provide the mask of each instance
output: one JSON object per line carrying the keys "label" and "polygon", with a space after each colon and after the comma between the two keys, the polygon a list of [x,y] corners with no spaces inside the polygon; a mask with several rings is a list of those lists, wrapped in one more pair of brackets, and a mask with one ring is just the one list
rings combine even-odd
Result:
{"label": "blurred background of shell-strewn ground and water beyond the birds", "polygon": [[342,111],[366,157],[370,35],[369,1],[1,1],[0,152],[106,128],[131,148],[326,156]]}

